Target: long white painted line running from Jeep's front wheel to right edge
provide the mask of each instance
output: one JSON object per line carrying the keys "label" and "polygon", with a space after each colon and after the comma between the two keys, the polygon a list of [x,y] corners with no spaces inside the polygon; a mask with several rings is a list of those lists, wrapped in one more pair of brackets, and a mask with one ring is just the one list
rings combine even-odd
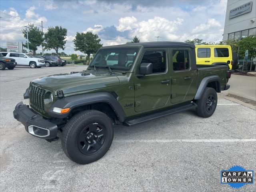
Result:
{"label": "long white painted line running from Jeep's front wheel to right edge", "polygon": [[113,140],[114,143],[172,143],[172,142],[256,142],[255,138],[252,139],[163,139],[163,140]]}

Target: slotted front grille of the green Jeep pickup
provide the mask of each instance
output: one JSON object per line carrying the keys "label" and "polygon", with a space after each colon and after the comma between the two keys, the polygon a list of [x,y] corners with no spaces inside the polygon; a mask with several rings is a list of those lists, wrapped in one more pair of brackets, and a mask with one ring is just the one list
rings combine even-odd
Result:
{"label": "slotted front grille of the green Jeep pickup", "polygon": [[34,84],[30,84],[29,88],[29,100],[32,108],[39,110],[40,112],[44,111],[44,95],[45,90],[36,86]]}

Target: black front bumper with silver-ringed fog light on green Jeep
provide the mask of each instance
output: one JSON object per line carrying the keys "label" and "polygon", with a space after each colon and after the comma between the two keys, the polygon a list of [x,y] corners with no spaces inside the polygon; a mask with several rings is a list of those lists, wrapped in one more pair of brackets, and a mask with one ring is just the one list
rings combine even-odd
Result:
{"label": "black front bumper with silver-ringed fog light on green Jeep", "polygon": [[19,102],[13,116],[16,120],[25,126],[26,132],[43,139],[52,139],[57,137],[58,126],[41,115],[33,112],[28,105]]}

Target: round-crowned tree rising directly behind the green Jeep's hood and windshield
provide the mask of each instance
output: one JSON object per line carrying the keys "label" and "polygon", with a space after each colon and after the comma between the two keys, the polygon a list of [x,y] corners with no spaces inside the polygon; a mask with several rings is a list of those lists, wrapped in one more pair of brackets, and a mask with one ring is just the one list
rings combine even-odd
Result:
{"label": "round-crowned tree rising directly behind the green Jeep's hood and windshield", "polygon": [[102,47],[99,36],[97,34],[93,34],[92,32],[77,32],[73,42],[75,45],[75,51],[80,51],[87,54],[88,64],[90,63],[90,54],[96,53],[98,49]]}

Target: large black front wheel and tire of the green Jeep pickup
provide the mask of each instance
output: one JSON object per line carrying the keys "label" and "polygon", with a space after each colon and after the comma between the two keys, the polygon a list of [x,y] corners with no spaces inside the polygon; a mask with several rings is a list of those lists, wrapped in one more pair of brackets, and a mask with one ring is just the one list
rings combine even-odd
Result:
{"label": "large black front wheel and tire of the green Jeep pickup", "polygon": [[94,162],[106,154],[114,137],[110,118],[97,110],[76,114],[62,133],[62,148],[78,164]]}

